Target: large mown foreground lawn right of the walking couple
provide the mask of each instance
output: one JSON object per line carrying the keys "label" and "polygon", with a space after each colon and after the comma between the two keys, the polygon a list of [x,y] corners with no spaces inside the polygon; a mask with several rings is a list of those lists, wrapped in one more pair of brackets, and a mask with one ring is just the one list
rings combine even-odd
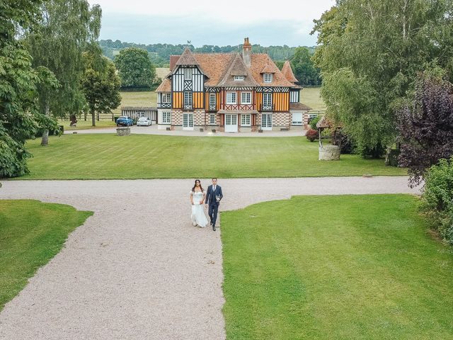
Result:
{"label": "large mown foreground lawn right of the walking couple", "polygon": [[222,212],[227,339],[453,339],[453,251],[417,201],[297,196]]}

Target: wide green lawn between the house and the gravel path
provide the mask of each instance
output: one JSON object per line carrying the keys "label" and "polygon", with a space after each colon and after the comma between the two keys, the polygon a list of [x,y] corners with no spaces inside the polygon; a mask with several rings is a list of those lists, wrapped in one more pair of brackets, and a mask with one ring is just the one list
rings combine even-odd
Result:
{"label": "wide green lawn between the house and the gravel path", "polygon": [[[27,143],[34,157],[21,179],[157,179],[405,175],[382,159],[342,155],[318,161],[305,137],[63,135]],[[214,157],[215,162],[212,162]]]}

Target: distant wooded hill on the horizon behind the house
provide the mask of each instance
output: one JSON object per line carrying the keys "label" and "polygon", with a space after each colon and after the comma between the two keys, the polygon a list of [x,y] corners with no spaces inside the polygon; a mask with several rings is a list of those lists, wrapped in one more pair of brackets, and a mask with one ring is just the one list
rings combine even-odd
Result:
{"label": "distant wooded hill on the horizon behind the house", "polygon": [[[171,44],[136,44],[134,42],[121,42],[120,40],[101,40],[99,42],[103,50],[103,54],[112,59],[117,55],[117,53],[126,47],[138,47],[149,52],[149,57],[153,64],[156,67],[169,67],[170,65],[170,55],[180,55],[185,46],[187,45],[171,45]],[[194,47],[193,45],[188,45],[190,50],[193,52],[241,52],[242,45],[236,46],[217,46],[217,45],[203,45],[202,47]],[[283,46],[268,46],[264,47],[261,45],[253,45],[252,50],[255,53],[265,53],[275,61],[283,61],[291,58],[294,55],[294,50],[297,47],[289,47],[287,45]],[[311,53],[314,53],[315,47],[308,47]]]}

